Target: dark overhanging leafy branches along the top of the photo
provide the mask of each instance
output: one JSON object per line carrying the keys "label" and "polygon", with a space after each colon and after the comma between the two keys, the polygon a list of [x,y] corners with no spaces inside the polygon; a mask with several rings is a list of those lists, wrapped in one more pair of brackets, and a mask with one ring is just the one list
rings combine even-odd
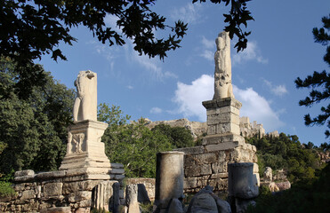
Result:
{"label": "dark overhanging leafy branches along the top of the photo", "polygon": [[[214,4],[231,3],[229,14],[224,14],[225,28],[232,38],[238,36],[237,51],[246,47],[246,36],[241,25],[253,20],[246,10],[248,0],[211,0]],[[134,50],[149,57],[164,59],[167,51],[180,47],[187,24],[181,20],[173,26],[165,17],[151,10],[156,0],[6,0],[0,2],[0,56],[11,57],[17,62],[16,92],[20,98],[28,95],[31,85],[44,85],[44,73],[34,67],[33,60],[51,54],[52,59],[67,59],[59,43],[72,45],[76,38],[70,28],[85,26],[101,43],[123,45],[125,37],[132,39]],[[193,0],[193,3],[197,0]],[[205,0],[200,1],[205,2]],[[106,24],[107,16],[117,18],[121,33]],[[169,30],[167,38],[157,38],[154,30]]]}

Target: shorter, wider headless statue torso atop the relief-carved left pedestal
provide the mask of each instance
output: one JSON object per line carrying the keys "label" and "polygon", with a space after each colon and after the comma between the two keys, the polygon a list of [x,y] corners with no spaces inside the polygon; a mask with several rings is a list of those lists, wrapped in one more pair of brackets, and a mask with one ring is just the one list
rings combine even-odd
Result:
{"label": "shorter, wider headless statue torso atop the relief-carved left pedestal", "polygon": [[80,71],[76,77],[76,100],[73,106],[73,120],[97,121],[97,75],[90,70]]}

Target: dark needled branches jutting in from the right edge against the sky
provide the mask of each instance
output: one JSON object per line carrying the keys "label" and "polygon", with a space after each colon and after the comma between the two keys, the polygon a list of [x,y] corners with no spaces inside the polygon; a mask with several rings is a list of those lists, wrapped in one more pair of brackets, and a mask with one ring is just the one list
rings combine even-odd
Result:
{"label": "dark needled branches jutting in from the right edge against the sky", "polygon": [[[316,43],[321,43],[326,46],[326,55],[324,56],[324,61],[328,66],[330,66],[330,14],[322,18],[323,28],[313,28],[314,40]],[[316,103],[326,101],[330,98],[330,73],[327,70],[322,72],[314,71],[313,75],[308,75],[304,80],[298,77],[294,81],[297,88],[309,88],[310,96],[306,99],[299,101],[300,106],[313,106]],[[305,124],[307,126],[313,125],[324,125],[330,129],[330,104],[321,107],[321,114],[311,118],[310,114],[305,114]],[[330,131],[326,130],[326,138],[330,136]]]}

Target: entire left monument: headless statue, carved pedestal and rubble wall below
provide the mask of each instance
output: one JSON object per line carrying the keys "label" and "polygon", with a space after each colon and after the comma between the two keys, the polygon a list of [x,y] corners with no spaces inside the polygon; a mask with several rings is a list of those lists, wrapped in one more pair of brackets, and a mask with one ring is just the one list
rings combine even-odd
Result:
{"label": "entire left monument: headless statue, carved pedestal and rubble wall below", "polygon": [[1,212],[117,211],[125,177],[120,163],[110,163],[101,137],[108,124],[97,121],[97,75],[81,71],[75,82],[74,123],[68,127],[67,154],[60,170],[15,173],[17,196],[0,203]]}

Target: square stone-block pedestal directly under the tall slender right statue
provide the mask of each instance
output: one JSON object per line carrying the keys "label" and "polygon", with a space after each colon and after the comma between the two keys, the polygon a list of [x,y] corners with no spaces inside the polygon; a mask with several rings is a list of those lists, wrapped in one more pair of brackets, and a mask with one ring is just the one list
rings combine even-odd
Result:
{"label": "square stone-block pedestal directly under the tall slender right statue", "polygon": [[242,104],[234,98],[203,102],[207,114],[207,135],[232,133],[239,136],[239,109]]}

